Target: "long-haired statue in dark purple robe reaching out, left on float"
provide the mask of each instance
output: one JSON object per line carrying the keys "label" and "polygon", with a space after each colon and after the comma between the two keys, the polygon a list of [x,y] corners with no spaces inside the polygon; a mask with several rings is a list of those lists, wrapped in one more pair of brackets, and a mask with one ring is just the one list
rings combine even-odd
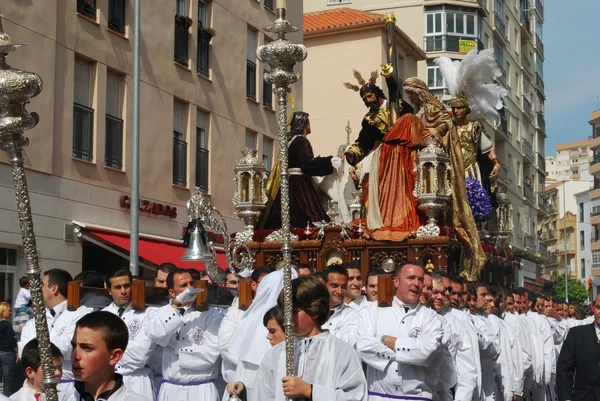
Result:
{"label": "long-haired statue in dark purple robe reaching out, left on float", "polygon": [[[288,172],[290,176],[290,227],[302,228],[307,222],[329,221],[321,206],[311,177],[333,173],[340,159],[333,156],[315,157],[306,138],[311,133],[308,113],[295,112],[292,117],[288,141]],[[281,228],[279,158],[267,181],[267,207],[261,216],[259,228]]]}

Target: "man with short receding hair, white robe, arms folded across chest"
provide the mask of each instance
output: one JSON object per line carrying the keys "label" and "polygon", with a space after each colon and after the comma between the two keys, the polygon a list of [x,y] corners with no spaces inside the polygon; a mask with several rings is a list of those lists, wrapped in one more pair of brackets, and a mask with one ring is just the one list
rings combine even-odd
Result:
{"label": "man with short receding hair, white robe, arms folded across chest", "polygon": [[405,263],[394,274],[396,295],[391,307],[361,312],[357,350],[367,365],[369,400],[419,397],[431,400],[439,377],[432,369],[446,348],[442,319],[419,302],[423,268]]}

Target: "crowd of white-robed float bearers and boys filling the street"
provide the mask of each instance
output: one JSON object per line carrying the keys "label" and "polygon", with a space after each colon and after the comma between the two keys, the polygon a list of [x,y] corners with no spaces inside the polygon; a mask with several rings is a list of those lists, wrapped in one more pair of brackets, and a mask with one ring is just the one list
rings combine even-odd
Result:
{"label": "crowd of white-robed float bearers and boys filling the street", "polygon": [[[598,309],[584,317],[578,305],[429,274],[413,263],[397,267],[392,305],[380,307],[379,273],[363,278],[353,264],[319,273],[305,265],[293,269],[296,374],[287,376],[282,271],[253,271],[254,300],[245,311],[237,298],[230,307],[197,310],[201,290],[194,280],[210,278],[165,264],[154,285],[168,289],[169,302],[140,311],[131,306],[131,273],[115,268],[102,283],[112,302],[90,299],[71,311],[71,275],[48,270],[42,293],[59,398],[573,400],[573,361],[559,358],[561,346],[574,327],[597,327]],[[95,272],[79,278],[100,284]],[[234,290],[238,283],[229,272],[220,284]],[[17,343],[5,333],[12,330],[4,324],[10,306],[0,304],[0,317],[2,372],[10,353],[25,375],[22,387],[5,376],[4,394],[43,400],[35,320]]]}

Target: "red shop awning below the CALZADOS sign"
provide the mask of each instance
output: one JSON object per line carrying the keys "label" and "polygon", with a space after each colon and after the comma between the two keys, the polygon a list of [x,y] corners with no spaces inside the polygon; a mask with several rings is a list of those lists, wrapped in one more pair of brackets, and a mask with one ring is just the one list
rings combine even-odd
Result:
{"label": "red shop awning below the CALZADOS sign", "polygon": [[[96,237],[98,240],[110,244],[111,247],[117,247],[118,253],[129,255],[129,234],[119,233],[114,231],[101,230],[91,227],[86,227],[87,234]],[[203,271],[205,269],[203,262],[183,262],[181,257],[185,252],[185,248],[181,243],[160,241],[154,238],[144,238],[140,235],[138,243],[138,255],[155,265],[170,262],[183,269],[196,269]],[[217,251],[217,265],[227,270],[227,258],[223,250]]]}

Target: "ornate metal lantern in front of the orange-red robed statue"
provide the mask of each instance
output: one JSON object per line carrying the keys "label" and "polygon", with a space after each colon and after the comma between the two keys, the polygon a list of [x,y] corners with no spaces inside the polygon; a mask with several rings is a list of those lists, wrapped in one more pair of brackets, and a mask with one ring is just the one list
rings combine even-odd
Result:
{"label": "ornate metal lantern in front of the orange-red robed statue", "polygon": [[417,184],[413,195],[419,210],[427,215],[427,224],[417,230],[418,237],[437,237],[440,228],[437,218],[450,203],[450,157],[433,135],[425,139],[427,146],[419,151],[419,162],[415,168]]}

